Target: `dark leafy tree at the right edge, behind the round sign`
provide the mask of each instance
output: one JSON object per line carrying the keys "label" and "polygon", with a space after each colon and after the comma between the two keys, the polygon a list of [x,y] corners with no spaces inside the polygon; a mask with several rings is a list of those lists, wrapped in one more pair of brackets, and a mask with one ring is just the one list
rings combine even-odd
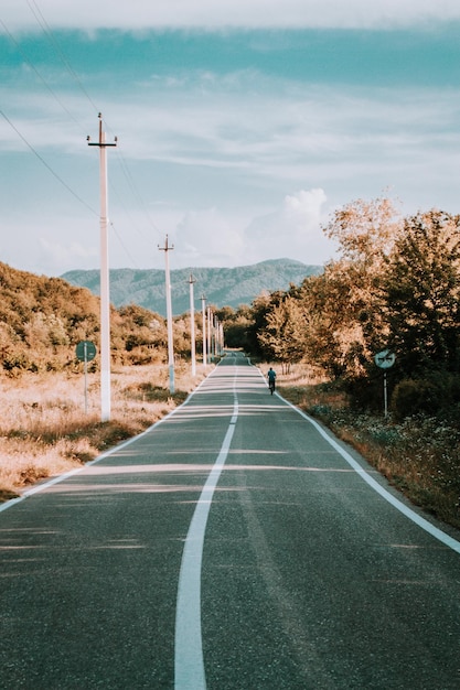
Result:
{"label": "dark leafy tree at the right edge, behind the round sign", "polygon": [[459,371],[460,218],[440,211],[407,218],[384,288],[402,373]]}

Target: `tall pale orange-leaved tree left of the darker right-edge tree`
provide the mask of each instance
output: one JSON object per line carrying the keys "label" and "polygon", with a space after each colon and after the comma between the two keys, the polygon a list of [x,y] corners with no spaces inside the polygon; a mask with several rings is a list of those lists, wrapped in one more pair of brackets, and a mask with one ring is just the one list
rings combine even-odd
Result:
{"label": "tall pale orange-leaved tree left of the darker right-edge tree", "polygon": [[333,376],[359,378],[387,338],[381,283],[402,219],[388,198],[357,200],[323,229],[341,256],[304,281],[308,349]]}

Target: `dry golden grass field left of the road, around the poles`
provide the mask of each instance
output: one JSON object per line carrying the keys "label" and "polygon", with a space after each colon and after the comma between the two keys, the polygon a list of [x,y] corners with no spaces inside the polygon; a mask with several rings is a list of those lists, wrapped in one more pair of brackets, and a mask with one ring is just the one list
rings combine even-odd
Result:
{"label": "dry golden grass field left of the road, around the poles", "polygon": [[176,392],[171,396],[164,365],[118,367],[111,373],[110,421],[104,423],[99,375],[88,375],[87,413],[81,374],[1,378],[0,500],[140,433],[181,403],[203,378],[202,367],[193,378],[190,366],[179,365]]}

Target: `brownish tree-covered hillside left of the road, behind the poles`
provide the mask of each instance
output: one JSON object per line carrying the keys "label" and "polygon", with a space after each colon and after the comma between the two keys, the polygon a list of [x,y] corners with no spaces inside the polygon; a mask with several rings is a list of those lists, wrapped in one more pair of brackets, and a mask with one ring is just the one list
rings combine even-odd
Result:
{"label": "brownish tree-covered hillside left of the road, behind the poles", "polygon": [[[178,357],[190,356],[190,317],[174,320]],[[114,364],[149,364],[167,358],[165,320],[142,306],[111,308]],[[200,323],[196,339],[200,345]],[[0,263],[0,370],[57,371],[78,365],[75,347],[92,341],[99,349],[99,299],[61,278],[35,276]],[[98,367],[98,358],[93,368]]]}

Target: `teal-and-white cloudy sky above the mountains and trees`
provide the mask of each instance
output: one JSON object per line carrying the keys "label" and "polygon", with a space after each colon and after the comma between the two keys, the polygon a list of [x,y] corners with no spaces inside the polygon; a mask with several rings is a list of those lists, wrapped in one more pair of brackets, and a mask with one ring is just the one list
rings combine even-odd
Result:
{"label": "teal-and-white cloudy sky above the mountains and trees", "polygon": [[457,214],[458,0],[2,0],[0,261],[324,263],[335,209]]}

